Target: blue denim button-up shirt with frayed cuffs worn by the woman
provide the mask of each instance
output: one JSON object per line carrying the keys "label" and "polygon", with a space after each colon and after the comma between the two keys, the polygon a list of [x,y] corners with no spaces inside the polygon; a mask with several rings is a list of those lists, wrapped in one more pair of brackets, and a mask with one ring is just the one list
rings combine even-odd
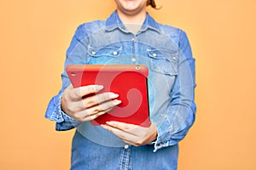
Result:
{"label": "blue denim button-up shirt with frayed cuffs worn by the woman", "polygon": [[[90,122],[78,122],[61,111],[61,96],[70,85],[67,65],[147,65],[150,119],[157,139],[143,146],[125,144]],[[177,143],[195,122],[195,59],[185,32],[161,25],[149,14],[137,34],[113,12],[107,20],[79,26],[67,49],[62,88],[45,117],[56,130],[76,127],[71,169],[176,169]],[[108,166],[107,166],[108,165]]]}

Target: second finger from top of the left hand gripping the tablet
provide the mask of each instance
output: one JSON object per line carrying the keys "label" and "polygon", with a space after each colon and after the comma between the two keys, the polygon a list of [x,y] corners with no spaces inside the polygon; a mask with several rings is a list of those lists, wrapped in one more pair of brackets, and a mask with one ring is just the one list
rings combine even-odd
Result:
{"label": "second finger from top of the left hand gripping the tablet", "polygon": [[94,105],[102,104],[111,99],[118,98],[119,94],[113,94],[112,92],[103,93],[103,94],[96,94],[94,96],[90,96],[83,99],[83,104],[85,108],[90,108]]}

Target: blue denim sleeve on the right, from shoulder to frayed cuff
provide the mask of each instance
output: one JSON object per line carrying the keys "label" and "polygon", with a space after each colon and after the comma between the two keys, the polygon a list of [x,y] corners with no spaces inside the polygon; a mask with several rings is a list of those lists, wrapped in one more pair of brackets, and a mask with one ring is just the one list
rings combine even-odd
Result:
{"label": "blue denim sleeve on the right, from shoulder to frayed cuff", "polygon": [[195,59],[185,32],[180,31],[179,35],[177,76],[172,86],[165,121],[158,127],[154,151],[177,144],[195,122]]}

